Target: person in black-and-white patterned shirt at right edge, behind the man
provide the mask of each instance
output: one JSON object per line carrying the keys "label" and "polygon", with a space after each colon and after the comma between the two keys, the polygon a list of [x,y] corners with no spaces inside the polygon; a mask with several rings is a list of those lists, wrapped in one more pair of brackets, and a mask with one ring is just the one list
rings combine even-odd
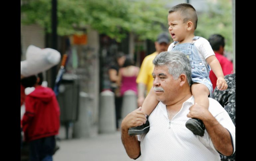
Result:
{"label": "person in black-and-white patterned shirt at right edge, behind the man", "polygon": [[[211,98],[217,100],[219,104],[226,110],[229,117],[236,124],[236,77],[234,74],[225,76],[228,88],[225,91],[214,89]],[[231,156],[220,155],[221,161],[235,161],[235,153]]]}

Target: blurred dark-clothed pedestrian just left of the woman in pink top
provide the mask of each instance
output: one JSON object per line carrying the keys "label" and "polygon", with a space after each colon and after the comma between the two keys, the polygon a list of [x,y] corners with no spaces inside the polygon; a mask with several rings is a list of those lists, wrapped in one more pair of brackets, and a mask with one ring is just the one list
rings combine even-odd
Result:
{"label": "blurred dark-clothed pedestrian just left of the woman in pink top", "polygon": [[121,119],[122,97],[120,94],[120,88],[117,84],[118,71],[123,66],[125,61],[125,55],[123,52],[118,52],[115,56],[115,61],[111,64],[108,74],[111,81],[111,91],[115,94],[115,111],[116,111],[116,129],[118,129],[118,120]]}

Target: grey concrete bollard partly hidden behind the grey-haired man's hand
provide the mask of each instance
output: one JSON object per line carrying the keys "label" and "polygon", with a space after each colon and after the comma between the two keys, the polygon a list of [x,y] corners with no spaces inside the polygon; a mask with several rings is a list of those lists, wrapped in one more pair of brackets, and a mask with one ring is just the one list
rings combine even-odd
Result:
{"label": "grey concrete bollard partly hidden behind the grey-haired man's hand", "polygon": [[137,96],[132,90],[124,92],[123,102],[122,102],[122,119],[126,117],[129,113],[137,109]]}

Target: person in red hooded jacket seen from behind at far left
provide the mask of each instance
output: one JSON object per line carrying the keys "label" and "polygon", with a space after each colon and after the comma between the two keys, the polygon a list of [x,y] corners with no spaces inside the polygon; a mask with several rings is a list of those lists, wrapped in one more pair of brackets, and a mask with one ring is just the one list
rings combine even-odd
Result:
{"label": "person in red hooded jacket seen from behind at far left", "polygon": [[51,88],[43,87],[43,74],[23,78],[21,84],[35,87],[26,96],[22,125],[25,141],[29,142],[30,160],[53,160],[55,135],[60,128],[60,107]]}

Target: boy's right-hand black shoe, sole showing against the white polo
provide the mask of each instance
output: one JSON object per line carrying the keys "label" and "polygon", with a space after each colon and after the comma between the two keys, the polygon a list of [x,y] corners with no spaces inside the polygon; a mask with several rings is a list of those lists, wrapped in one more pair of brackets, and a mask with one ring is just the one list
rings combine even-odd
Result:
{"label": "boy's right-hand black shoe, sole showing against the white polo", "polygon": [[203,136],[205,130],[203,121],[199,119],[189,119],[185,125],[193,134]]}

